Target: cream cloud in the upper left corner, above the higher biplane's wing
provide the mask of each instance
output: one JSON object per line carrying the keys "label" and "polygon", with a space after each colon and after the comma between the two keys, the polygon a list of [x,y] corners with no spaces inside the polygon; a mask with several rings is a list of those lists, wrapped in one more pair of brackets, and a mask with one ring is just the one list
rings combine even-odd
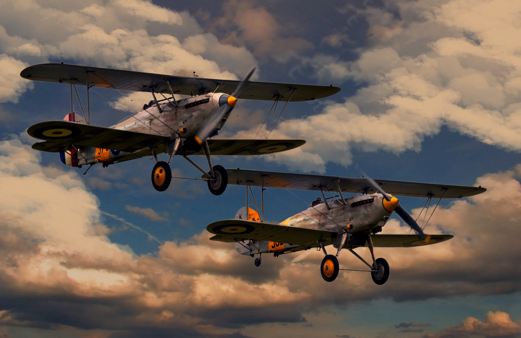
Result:
{"label": "cream cloud in the upper left corner, above the higher biplane's wing", "polygon": [[[201,77],[221,79],[237,79],[235,71],[245,74],[256,64],[245,47],[200,34],[202,29],[195,20],[188,13],[182,16],[141,0],[86,7],[70,3],[66,8],[36,0],[24,1],[23,6],[17,1],[2,2],[0,53],[5,55],[0,54],[4,72],[0,73],[4,93],[0,102],[16,102],[24,90],[32,88],[27,84],[31,82],[19,78],[21,69],[49,59],[171,75],[188,76],[196,71]],[[156,26],[151,28],[151,22]],[[186,40],[187,48],[194,52],[184,49],[179,39]],[[207,50],[201,51],[201,47]],[[4,89],[2,77],[16,86]],[[119,102],[114,105],[122,110],[133,108]]]}

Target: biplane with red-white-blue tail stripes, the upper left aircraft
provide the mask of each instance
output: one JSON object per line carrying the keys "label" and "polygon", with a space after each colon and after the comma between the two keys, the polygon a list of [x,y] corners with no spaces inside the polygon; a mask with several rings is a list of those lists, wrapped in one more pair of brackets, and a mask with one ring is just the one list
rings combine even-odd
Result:
{"label": "biplane with red-white-blue tail stripes, the upper left aircraft", "polygon": [[[212,155],[262,155],[302,146],[300,139],[212,139],[225,125],[238,99],[274,101],[266,119],[272,121],[279,103],[283,107],[275,124],[289,102],[312,101],[336,94],[340,88],[298,85],[294,83],[249,81],[253,68],[242,80],[218,80],[140,73],[120,69],[97,68],[66,64],[40,64],[23,69],[20,76],[34,81],[68,83],[71,112],[63,120],[32,125],[27,132],[43,140],[34,143],[35,150],[60,153],[64,164],[86,172],[97,163],[110,164],[152,156],[152,186],[165,191],[172,174],[170,163],[180,155],[203,173],[208,189],[220,195],[228,184],[227,172],[212,165]],[[81,103],[77,85],[86,87],[86,107]],[[91,124],[89,89],[92,87],[150,92],[153,100],[143,110],[111,127]],[[73,94],[80,110],[74,111]],[[174,95],[189,96],[177,100]],[[163,96],[163,99],[157,96]],[[82,115],[79,112],[82,112]],[[264,123],[263,123],[264,124]],[[271,126],[271,130],[275,126]],[[168,162],[159,161],[157,154],[167,153]],[[193,162],[189,155],[205,155],[209,171]],[[175,177],[187,178],[187,177]]]}

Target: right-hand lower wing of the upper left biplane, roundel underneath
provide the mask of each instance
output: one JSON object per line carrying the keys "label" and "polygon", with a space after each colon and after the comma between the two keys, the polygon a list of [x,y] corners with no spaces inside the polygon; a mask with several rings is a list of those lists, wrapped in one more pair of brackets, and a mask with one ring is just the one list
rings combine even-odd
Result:
{"label": "right-hand lower wing of the upper left biplane, roundel underneath", "polygon": [[[299,139],[208,139],[212,155],[262,155],[286,151],[306,143]],[[204,155],[199,152],[183,152],[179,155]]]}

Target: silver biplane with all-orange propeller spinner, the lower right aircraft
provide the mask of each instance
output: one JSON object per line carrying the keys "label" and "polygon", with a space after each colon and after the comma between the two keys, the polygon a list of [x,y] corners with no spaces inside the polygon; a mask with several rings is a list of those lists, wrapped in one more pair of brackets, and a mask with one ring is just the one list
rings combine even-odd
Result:
{"label": "silver biplane with all-orange propeller spinner, the lower right aircraft", "polygon": [[[440,201],[446,198],[474,196],[487,191],[481,186],[373,180],[364,176],[349,178],[239,169],[227,172],[231,184],[246,186],[246,206],[238,211],[235,219],[209,224],[206,230],[214,235],[210,239],[235,243],[235,249],[242,255],[258,255],[254,261],[257,267],[261,265],[262,253],[273,253],[277,257],[313,248],[322,250],[325,257],[320,263],[320,274],[327,282],[334,281],[340,270],[346,270],[370,272],[376,284],[384,284],[389,278],[389,264],[383,258],[375,259],[374,248],[410,248],[451,239],[453,235],[424,233]],[[261,187],[261,209],[257,207],[252,186]],[[266,188],[315,190],[320,191],[321,197],[313,201],[308,209],[279,224],[267,223],[264,222]],[[248,204],[249,193],[253,198],[255,210]],[[326,197],[325,194],[330,196]],[[356,195],[344,197],[343,194]],[[400,205],[399,199],[395,196],[426,198],[416,220]],[[439,200],[426,219],[432,199]],[[380,234],[393,212],[415,233]],[[424,216],[420,227],[417,220],[422,214]],[[336,255],[328,255],[328,245],[337,249]],[[367,262],[354,251],[361,247],[369,248],[371,261]],[[338,256],[342,249],[349,250],[369,269],[340,269]]]}

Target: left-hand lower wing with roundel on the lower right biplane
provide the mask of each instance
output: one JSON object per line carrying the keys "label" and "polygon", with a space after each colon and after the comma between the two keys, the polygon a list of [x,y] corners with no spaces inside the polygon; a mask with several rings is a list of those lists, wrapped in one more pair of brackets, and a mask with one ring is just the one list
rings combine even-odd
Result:
{"label": "left-hand lower wing with roundel on the lower right biplane", "polygon": [[245,220],[225,220],[208,224],[206,230],[214,234],[211,240],[235,242],[242,239],[307,245],[320,239],[330,239],[338,232],[306,229],[290,225],[261,223]]}

